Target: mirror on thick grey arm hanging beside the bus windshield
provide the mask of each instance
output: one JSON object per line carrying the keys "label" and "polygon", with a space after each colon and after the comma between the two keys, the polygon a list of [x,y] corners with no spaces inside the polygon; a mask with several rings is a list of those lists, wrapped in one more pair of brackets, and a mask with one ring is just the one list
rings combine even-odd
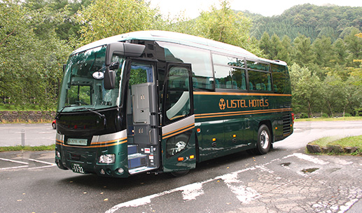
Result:
{"label": "mirror on thick grey arm hanging beside the bus windshield", "polygon": [[111,90],[115,87],[116,72],[112,71],[115,66],[112,65],[113,55],[121,55],[125,57],[140,57],[144,53],[146,46],[135,43],[109,43],[106,48],[105,64],[106,71],[104,73],[104,88]]}

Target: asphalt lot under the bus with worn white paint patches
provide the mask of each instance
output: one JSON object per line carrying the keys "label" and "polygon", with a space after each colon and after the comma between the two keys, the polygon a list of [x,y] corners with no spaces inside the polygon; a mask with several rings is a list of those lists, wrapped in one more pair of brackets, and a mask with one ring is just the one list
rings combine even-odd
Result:
{"label": "asphalt lot under the bus with worn white paint patches", "polygon": [[179,178],[101,178],[57,169],[53,151],[0,153],[0,212],[362,212],[362,158],[304,153],[318,137],[361,134],[361,121],[298,122],[265,156],[209,160]]}

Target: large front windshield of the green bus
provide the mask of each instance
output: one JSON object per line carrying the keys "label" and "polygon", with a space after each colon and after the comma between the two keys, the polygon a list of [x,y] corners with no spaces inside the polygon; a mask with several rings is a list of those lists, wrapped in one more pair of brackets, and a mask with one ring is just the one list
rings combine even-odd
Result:
{"label": "large front windshield of the green bus", "polygon": [[[124,59],[113,57],[118,62],[116,87],[104,88],[104,59],[106,46],[99,46],[69,57],[64,71],[58,111],[84,111],[119,107],[120,72]],[[113,63],[115,64],[115,63]]]}

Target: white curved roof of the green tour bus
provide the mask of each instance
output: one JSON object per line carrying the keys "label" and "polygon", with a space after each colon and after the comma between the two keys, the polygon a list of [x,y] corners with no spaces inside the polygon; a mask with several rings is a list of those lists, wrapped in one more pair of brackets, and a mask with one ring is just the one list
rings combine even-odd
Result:
{"label": "white curved roof of the green tour bus", "polygon": [[119,41],[131,41],[131,40],[148,40],[148,41],[166,41],[170,43],[179,43],[186,46],[194,46],[198,48],[203,48],[207,50],[214,50],[219,53],[225,53],[229,55],[235,55],[240,57],[249,57],[254,58],[257,60],[261,60],[264,62],[271,62],[274,64],[281,64],[286,65],[286,62],[280,61],[280,60],[267,60],[264,58],[260,58],[253,53],[250,53],[248,50],[245,50],[244,48],[240,48],[237,46],[232,46],[228,43],[222,43],[219,41],[214,41],[211,39],[204,39],[202,37],[198,36],[192,36],[189,34],[181,34],[178,32],[167,32],[167,31],[138,31],[138,32],[129,32],[126,34],[120,34],[117,36],[111,36],[106,39],[101,39],[99,41],[95,41],[92,43],[89,43],[85,46],[82,46],[81,48],[78,48],[75,50],[73,54],[83,52],[85,50],[88,50],[90,48],[95,48],[97,46],[103,46],[108,43],[114,43]]}

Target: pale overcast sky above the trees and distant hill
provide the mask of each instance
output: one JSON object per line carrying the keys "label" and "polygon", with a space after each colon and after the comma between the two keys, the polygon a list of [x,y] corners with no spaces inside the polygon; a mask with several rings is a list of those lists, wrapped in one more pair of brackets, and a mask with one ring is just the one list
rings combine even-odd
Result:
{"label": "pale overcast sky above the trees and distant hill", "polygon": [[[172,17],[185,11],[188,18],[196,18],[201,11],[209,11],[211,5],[218,6],[219,0],[149,0],[151,6],[160,8],[164,15]],[[335,4],[337,6],[362,6],[361,0],[230,0],[235,11],[250,11],[264,16],[280,15],[286,9],[298,4]]]}

